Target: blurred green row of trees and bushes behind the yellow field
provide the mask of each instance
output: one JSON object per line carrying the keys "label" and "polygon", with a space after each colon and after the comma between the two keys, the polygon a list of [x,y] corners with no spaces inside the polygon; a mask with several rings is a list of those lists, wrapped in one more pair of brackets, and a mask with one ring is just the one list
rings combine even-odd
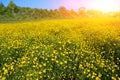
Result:
{"label": "blurred green row of trees and bushes behind the yellow field", "polygon": [[0,3],[0,20],[36,20],[36,19],[60,19],[60,18],[83,18],[83,17],[120,17],[120,12],[103,13],[99,10],[86,10],[80,7],[78,11],[67,10],[64,6],[59,9],[47,10],[17,6],[10,1],[7,7]]}

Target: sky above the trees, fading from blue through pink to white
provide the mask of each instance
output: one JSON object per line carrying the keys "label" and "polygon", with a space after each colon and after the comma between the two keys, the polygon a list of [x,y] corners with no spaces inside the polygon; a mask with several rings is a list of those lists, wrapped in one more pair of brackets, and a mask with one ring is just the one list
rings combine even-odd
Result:
{"label": "sky above the trees, fading from blue through pink to white", "polygon": [[[12,0],[16,5],[21,7],[31,7],[31,8],[42,8],[42,9],[58,9],[60,6],[65,6],[67,9],[74,9],[84,6],[86,9],[91,9],[95,5],[95,2],[105,1],[105,0]],[[120,7],[120,0],[114,0],[115,5]],[[10,0],[0,0],[5,6],[8,5]],[[99,3],[98,3],[99,4]],[[97,5],[98,5],[97,4]],[[106,3],[105,5],[109,4]],[[105,6],[102,5],[102,6]],[[111,6],[113,6],[111,4]]]}

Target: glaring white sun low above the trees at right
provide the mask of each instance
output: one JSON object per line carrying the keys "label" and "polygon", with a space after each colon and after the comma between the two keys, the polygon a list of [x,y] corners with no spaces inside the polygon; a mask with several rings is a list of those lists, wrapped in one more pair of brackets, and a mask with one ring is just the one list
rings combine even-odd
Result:
{"label": "glaring white sun low above the trees at right", "polygon": [[100,10],[102,12],[119,11],[116,0],[94,0],[92,2],[92,9]]}

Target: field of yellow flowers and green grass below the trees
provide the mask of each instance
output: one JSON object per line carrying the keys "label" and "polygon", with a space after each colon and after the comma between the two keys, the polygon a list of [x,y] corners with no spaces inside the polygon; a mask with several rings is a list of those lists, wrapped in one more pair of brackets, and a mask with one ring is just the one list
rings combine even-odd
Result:
{"label": "field of yellow flowers and green grass below the trees", "polygon": [[120,80],[120,20],[0,24],[0,80]]}

